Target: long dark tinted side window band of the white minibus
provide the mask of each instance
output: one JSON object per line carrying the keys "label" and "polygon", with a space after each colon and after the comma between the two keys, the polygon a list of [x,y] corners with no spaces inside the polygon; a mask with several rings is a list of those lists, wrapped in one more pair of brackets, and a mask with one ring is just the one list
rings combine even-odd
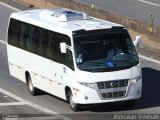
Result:
{"label": "long dark tinted side window band of the white minibus", "polygon": [[73,69],[72,52],[60,52],[60,43],[71,45],[67,35],[49,31],[28,23],[10,20],[8,43],[23,50],[35,53],[42,57],[65,64]]}

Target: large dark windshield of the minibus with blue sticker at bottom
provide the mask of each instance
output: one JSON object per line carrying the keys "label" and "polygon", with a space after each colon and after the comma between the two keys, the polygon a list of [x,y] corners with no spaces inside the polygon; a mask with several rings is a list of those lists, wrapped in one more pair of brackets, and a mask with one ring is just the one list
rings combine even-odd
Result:
{"label": "large dark windshield of the minibus with blue sticker at bottom", "polygon": [[139,63],[128,32],[78,36],[74,38],[74,51],[77,67],[83,71],[115,71]]}

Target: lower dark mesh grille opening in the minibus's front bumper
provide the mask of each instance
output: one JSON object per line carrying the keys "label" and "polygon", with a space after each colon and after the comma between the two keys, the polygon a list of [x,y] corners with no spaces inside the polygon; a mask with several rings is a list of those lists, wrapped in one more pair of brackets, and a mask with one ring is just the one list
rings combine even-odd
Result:
{"label": "lower dark mesh grille opening in the minibus's front bumper", "polygon": [[124,97],[126,91],[118,91],[118,92],[109,92],[109,93],[101,93],[104,98],[119,98]]}

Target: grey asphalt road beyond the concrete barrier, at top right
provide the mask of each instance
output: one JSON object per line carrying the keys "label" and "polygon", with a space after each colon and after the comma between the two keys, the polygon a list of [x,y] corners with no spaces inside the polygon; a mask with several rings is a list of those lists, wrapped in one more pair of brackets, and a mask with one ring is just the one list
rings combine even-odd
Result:
{"label": "grey asphalt road beyond the concrete barrier, at top right", "polygon": [[122,16],[140,19],[152,23],[150,15],[154,15],[154,24],[160,26],[159,0],[75,0],[84,4],[118,13]]}

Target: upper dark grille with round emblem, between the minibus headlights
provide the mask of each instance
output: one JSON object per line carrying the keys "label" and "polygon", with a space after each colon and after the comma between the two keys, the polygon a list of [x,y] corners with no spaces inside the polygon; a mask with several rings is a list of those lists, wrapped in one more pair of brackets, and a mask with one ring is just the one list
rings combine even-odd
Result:
{"label": "upper dark grille with round emblem, between the minibus headlights", "polygon": [[97,85],[99,89],[121,88],[128,86],[128,80],[98,82]]}

